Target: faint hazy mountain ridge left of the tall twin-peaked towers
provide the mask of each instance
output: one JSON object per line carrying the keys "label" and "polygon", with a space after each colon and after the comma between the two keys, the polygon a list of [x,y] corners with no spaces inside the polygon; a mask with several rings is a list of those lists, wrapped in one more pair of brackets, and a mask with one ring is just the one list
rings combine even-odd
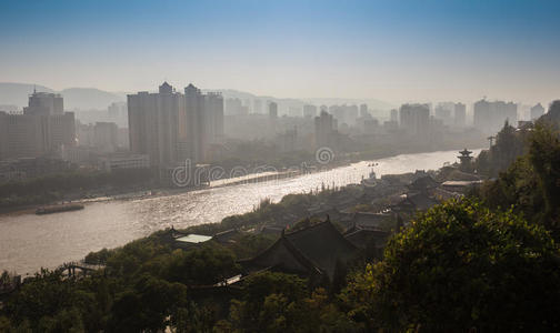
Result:
{"label": "faint hazy mountain ridge left of the tall twin-peaked towers", "polygon": [[20,109],[27,107],[28,97],[33,92],[33,89],[62,94],[66,110],[104,110],[112,102],[124,101],[124,98],[120,94],[94,88],[69,88],[56,91],[39,84],[0,82],[0,104],[17,105]]}

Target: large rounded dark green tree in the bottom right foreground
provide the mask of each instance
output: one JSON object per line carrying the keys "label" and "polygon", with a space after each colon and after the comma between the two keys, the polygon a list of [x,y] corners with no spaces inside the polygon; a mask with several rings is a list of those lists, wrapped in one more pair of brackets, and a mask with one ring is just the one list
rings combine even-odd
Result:
{"label": "large rounded dark green tree in the bottom right foreground", "polygon": [[558,254],[542,226],[451,201],[417,216],[341,296],[369,330],[558,331]]}

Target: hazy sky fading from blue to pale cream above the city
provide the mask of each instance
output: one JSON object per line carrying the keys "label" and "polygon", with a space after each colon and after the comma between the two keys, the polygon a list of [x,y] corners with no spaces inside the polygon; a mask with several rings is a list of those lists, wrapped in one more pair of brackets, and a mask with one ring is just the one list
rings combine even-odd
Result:
{"label": "hazy sky fading from blue to pale cream above the city", "polygon": [[559,18],[559,0],[0,0],[0,81],[548,103]]}

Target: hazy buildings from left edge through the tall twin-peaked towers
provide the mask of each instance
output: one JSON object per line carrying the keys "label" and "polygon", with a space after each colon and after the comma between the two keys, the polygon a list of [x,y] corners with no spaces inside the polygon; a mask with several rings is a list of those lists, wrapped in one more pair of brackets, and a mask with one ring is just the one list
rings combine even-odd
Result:
{"label": "hazy buildings from left edge through the tall twin-peaked towers", "polygon": [[[96,117],[93,112],[98,112]],[[0,180],[63,172],[72,168],[112,171],[152,169],[160,179],[177,165],[209,160],[223,141],[223,99],[192,84],[177,92],[163,82],[156,93],[128,95],[127,103],[91,111],[81,123],[64,112],[60,94],[33,92],[23,112],[0,112]],[[104,117],[104,118],[103,118]],[[128,128],[120,128],[126,117]]]}

